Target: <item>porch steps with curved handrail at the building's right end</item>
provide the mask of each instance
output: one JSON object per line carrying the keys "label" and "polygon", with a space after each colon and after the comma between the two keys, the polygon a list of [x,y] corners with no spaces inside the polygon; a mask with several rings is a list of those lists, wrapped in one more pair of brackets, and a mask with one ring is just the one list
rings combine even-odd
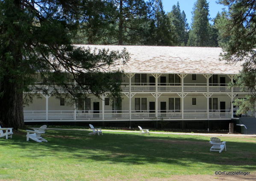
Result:
{"label": "porch steps with curved handrail at the building's right end", "polygon": [[254,117],[241,117],[239,118],[239,124],[244,124],[247,127],[242,127],[242,131],[244,134],[256,134],[256,118]]}

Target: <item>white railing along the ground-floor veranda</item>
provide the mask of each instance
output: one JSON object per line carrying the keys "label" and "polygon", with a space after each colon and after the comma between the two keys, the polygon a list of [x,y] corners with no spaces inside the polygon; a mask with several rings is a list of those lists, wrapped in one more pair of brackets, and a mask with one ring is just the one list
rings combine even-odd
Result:
{"label": "white railing along the ground-floor veranda", "polygon": [[[115,111],[24,111],[24,120],[129,120],[128,110]],[[231,118],[230,110],[210,110],[209,118]],[[181,110],[159,110],[158,119],[181,119]],[[208,118],[206,110],[184,110],[185,119]],[[132,110],[132,120],[152,119],[156,120],[155,110]]]}

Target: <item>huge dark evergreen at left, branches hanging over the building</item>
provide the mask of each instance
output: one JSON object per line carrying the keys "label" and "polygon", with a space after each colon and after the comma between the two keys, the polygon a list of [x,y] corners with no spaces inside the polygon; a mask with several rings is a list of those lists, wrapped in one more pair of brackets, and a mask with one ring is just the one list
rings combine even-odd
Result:
{"label": "huge dark evergreen at left, branches hanging over the building", "polygon": [[[118,94],[121,80],[116,77],[120,72],[101,70],[115,60],[127,61],[127,52],[91,51],[72,45],[71,39],[83,21],[86,2],[0,0],[2,126],[23,126],[23,92],[30,92],[28,85],[33,85],[39,75],[46,85],[64,86],[74,100],[86,96],[89,90],[96,96],[106,90]],[[70,84],[74,80],[77,85]],[[45,87],[41,91],[47,94]],[[58,94],[57,90],[55,93]]]}

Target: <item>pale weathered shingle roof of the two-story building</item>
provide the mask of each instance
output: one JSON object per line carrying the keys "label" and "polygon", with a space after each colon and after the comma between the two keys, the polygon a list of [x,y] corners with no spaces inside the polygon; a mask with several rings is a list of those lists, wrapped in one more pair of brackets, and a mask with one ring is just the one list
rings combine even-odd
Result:
{"label": "pale weathered shingle roof of the two-story building", "polygon": [[125,65],[120,62],[115,68],[127,73],[186,73],[186,74],[238,74],[241,63],[228,64],[220,61],[221,48],[185,46],[117,46],[77,45],[92,50],[109,49],[130,54]]}

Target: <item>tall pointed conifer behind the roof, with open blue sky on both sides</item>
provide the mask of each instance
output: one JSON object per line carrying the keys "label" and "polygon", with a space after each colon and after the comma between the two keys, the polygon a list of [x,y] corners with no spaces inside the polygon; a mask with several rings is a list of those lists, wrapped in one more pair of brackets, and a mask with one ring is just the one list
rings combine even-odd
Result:
{"label": "tall pointed conifer behind the roof, with open blue sky on both sides", "polygon": [[188,46],[209,46],[209,3],[197,0],[192,11]]}

